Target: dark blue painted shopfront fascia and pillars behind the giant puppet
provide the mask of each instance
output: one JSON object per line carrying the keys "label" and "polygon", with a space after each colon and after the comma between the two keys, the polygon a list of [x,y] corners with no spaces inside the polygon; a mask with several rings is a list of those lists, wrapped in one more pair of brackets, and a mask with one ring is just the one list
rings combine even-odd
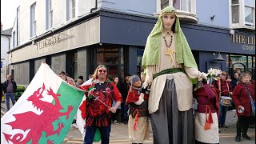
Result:
{"label": "dark blue painted shopfront fascia and pillars behind the giant puppet", "polygon": [[[113,13],[110,11],[101,11],[100,15],[100,42],[133,46],[133,51],[134,46],[139,48],[146,45],[146,38],[157,21],[157,18],[154,17],[140,17],[136,14]],[[181,26],[191,50],[196,53],[194,57],[197,57],[195,59],[201,71],[206,72],[210,67],[226,70],[226,61],[213,61],[213,58],[217,56],[217,52],[221,52],[224,59],[226,59],[227,53],[255,54],[255,46],[254,50],[245,50],[243,46],[246,44],[232,42],[232,36],[228,28],[191,23],[181,23]],[[241,32],[241,35],[255,37],[250,32]],[[129,72],[134,74],[137,66],[135,61],[132,61],[134,54],[130,53],[128,59],[130,59],[128,64]]]}

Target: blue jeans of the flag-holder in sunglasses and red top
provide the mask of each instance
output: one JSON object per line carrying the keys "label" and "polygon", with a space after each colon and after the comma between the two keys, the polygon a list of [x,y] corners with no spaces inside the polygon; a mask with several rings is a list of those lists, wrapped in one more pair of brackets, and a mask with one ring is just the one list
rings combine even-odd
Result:
{"label": "blue jeans of the flag-holder in sunglasses and red top", "polygon": [[86,136],[83,144],[92,144],[94,142],[94,134],[97,128],[102,136],[102,144],[109,144],[111,126],[86,126]]}

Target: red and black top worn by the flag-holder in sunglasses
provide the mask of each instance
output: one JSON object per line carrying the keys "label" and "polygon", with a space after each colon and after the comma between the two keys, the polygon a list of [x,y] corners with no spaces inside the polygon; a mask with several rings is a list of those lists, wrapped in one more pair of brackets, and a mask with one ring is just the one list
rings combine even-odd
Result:
{"label": "red and black top worn by the flag-holder in sunglasses", "polygon": [[95,84],[93,82],[89,86],[80,86],[79,88],[82,90],[91,89],[90,94],[86,93],[86,101],[79,107],[82,111],[82,118],[86,118],[86,125],[110,126],[110,110],[107,106],[111,107],[113,100],[122,102],[122,96],[114,82],[106,79],[104,83]]}

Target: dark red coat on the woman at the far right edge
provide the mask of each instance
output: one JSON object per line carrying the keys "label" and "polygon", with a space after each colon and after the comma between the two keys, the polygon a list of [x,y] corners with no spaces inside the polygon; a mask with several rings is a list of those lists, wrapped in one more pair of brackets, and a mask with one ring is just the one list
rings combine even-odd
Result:
{"label": "dark red coat on the woman at the far right edge", "polygon": [[[246,86],[246,85],[243,83],[238,83],[238,85],[234,87],[233,94],[232,94],[232,100],[234,102],[234,105],[236,107],[238,115],[244,115],[244,116],[250,117],[250,115],[251,115],[250,97],[249,97],[249,94],[246,91],[246,88],[244,86]],[[249,85],[246,87],[250,91],[250,95],[255,102],[254,86]],[[244,113],[238,113],[238,106],[243,106],[245,108]]]}

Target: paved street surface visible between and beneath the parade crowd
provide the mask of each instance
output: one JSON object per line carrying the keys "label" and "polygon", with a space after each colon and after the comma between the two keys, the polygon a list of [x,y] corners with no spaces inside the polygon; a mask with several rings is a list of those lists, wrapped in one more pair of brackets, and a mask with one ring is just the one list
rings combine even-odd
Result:
{"label": "paved street surface visible between and beneath the parade crowd", "polygon": [[[11,102],[10,102],[11,103]],[[11,106],[11,104],[10,104]],[[1,118],[3,114],[6,113],[6,102],[1,102]],[[238,117],[235,111],[228,111],[226,114],[226,125],[229,128],[220,128],[221,133],[219,133],[220,144],[254,144],[255,143],[255,128],[249,128],[247,134],[252,138],[251,140],[246,140],[242,138],[241,142],[235,142],[234,138],[236,136],[236,122]],[[82,134],[77,128],[73,126],[70,127],[66,138],[62,144],[82,144]],[[99,144],[100,142],[94,142]],[[110,133],[110,143],[113,144],[128,144],[128,126],[123,123],[112,124]],[[150,139],[143,142],[145,144],[153,144],[153,132],[150,126]]]}

